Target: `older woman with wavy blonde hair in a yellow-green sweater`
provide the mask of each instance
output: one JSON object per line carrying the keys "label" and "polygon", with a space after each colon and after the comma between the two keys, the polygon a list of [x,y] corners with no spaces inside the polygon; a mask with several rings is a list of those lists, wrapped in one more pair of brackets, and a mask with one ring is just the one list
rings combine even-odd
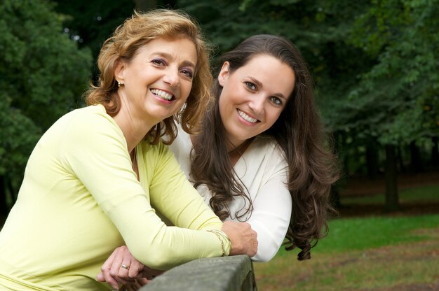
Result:
{"label": "older woman with wavy blonde hair in a yellow-green sweater", "polygon": [[[183,104],[179,117],[190,132],[208,102],[208,56],[194,22],[169,10],[135,13],[104,43],[98,66],[89,106],[55,122],[29,157],[0,232],[0,286],[117,288],[95,276],[123,244],[162,270],[198,257],[254,255],[255,232],[223,225],[161,142],[175,136]],[[119,269],[128,274],[130,265]]]}

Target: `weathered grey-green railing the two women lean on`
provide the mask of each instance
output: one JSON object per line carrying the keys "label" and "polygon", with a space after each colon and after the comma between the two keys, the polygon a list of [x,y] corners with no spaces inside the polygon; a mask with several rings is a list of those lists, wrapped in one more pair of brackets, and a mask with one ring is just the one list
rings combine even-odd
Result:
{"label": "weathered grey-green railing the two women lean on", "polygon": [[254,291],[253,266],[247,255],[211,257],[182,264],[154,278],[140,291]]}

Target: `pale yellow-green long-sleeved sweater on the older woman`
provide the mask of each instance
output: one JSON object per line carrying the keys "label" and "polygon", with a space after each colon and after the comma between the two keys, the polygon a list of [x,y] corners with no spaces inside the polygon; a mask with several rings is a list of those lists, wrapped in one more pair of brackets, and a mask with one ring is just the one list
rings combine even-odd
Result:
{"label": "pale yellow-green long-sleeved sweater on the older woman", "polygon": [[0,232],[0,290],[111,289],[95,276],[124,244],[154,269],[222,255],[217,236],[205,232],[222,222],[168,147],[142,142],[136,150],[140,183],[121,129],[100,105],[48,129]]}

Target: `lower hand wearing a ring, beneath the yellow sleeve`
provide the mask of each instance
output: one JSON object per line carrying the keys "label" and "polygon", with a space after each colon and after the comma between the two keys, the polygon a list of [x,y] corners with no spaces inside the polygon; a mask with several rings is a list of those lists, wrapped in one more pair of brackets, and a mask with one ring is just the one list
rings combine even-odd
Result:
{"label": "lower hand wearing a ring, beneath the yellow sleeve", "polygon": [[[127,266],[128,269],[123,268],[122,265]],[[130,288],[135,288],[137,279],[139,283],[147,283],[141,280],[147,278],[151,280],[155,276],[162,274],[163,271],[150,269],[137,261],[130,250],[126,246],[121,246],[113,251],[112,255],[104,262],[101,267],[101,273],[96,276],[96,280],[100,282],[107,282],[114,288],[119,289],[119,283],[123,285],[130,285]],[[136,289],[134,289],[136,290]]]}

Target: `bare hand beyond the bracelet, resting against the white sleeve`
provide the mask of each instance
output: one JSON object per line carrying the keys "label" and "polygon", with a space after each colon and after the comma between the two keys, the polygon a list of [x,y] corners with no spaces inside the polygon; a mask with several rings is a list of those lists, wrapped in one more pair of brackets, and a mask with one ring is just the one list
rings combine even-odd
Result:
{"label": "bare hand beyond the bracelet, resting against the white sleeve", "polygon": [[248,255],[253,257],[257,253],[257,233],[247,222],[226,221],[222,231],[229,236],[231,250],[229,255]]}

